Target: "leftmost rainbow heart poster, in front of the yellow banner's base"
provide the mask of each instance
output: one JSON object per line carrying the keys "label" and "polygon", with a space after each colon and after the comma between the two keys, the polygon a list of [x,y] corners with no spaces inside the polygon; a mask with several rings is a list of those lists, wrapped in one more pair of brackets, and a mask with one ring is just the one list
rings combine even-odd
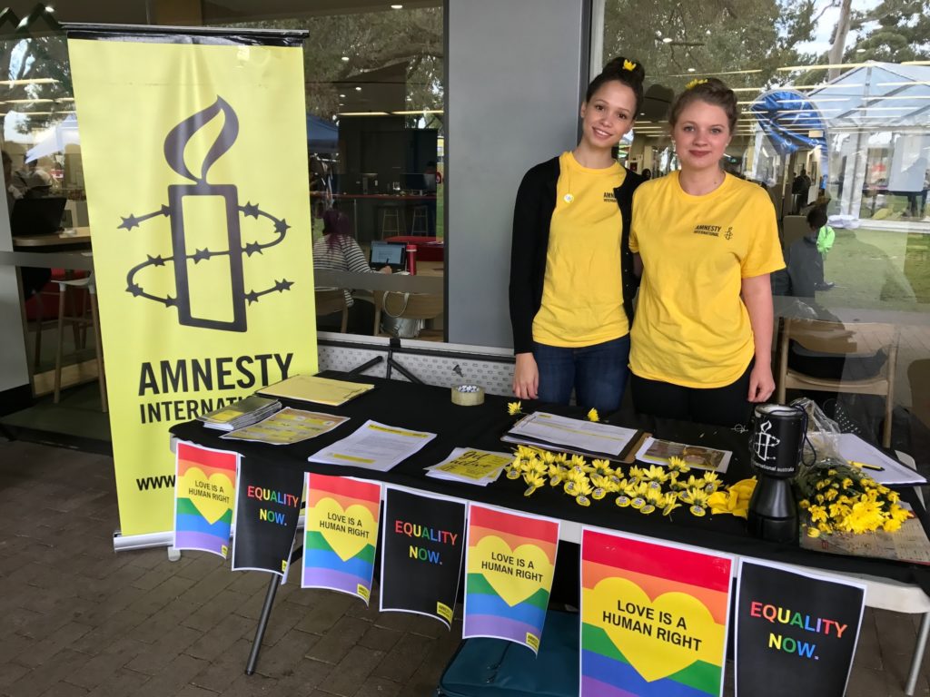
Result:
{"label": "leftmost rainbow heart poster, in front of the yellow banner's base", "polygon": [[176,462],[174,546],[226,559],[239,454],[179,442]]}

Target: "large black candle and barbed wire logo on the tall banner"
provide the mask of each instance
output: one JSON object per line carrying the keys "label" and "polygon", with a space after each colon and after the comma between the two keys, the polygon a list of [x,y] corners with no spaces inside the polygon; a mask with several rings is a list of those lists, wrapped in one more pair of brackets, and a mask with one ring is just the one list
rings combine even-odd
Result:
{"label": "large black candle and barbed wire logo on the tall banner", "polygon": [[[201,163],[200,174],[193,174],[184,162],[184,148],[197,131],[220,114],[224,120],[219,135],[210,146],[209,151],[206,152],[206,156]],[[217,97],[217,100],[203,111],[196,112],[181,121],[171,129],[165,138],[165,159],[171,169],[193,183],[169,185],[167,188],[167,204],[162,205],[157,211],[142,216],[130,213],[127,217],[123,217],[123,222],[118,226],[118,229],[121,230],[133,230],[152,218],[168,218],[171,224],[171,254],[169,256],[146,255],[145,261],[134,266],[126,274],[126,292],[134,297],[161,303],[166,308],[177,308],[179,323],[188,326],[245,332],[247,329],[246,303],[247,305],[257,303],[262,296],[267,296],[270,293],[284,293],[294,285],[293,281],[283,278],[280,281],[275,280],[273,285],[269,287],[260,290],[249,289],[246,292],[243,275],[243,255],[246,257],[260,255],[265,250],[284,242],[290,226],[284,218],[274,217],[271,213],[261,210],[259,204],[252,204],[251,202],[239,204],[239,193],[234,184],[212,184],[206,181],[210,167],[233,147],[238,134],[239,118],[229,103],[220,97]],[[209,245],[202,249],[198,248],[195,239],[193,239],[197,230],[187,230],[185,228],[185,202],[190,204],[198,200],[198,198],[203,200],[204,197],[212,197],[213,199],[219,197],[223,203],[226,219],[225,221],[218,220],[217,225],[222,225],[225,222],[228,240],[225,249],[211,249]],[[242,228],[239,222],[240,214],[243,217],[254,217],[256,219],[260,217],[268,220],[272,225],[275,236],[267,242],[254,240],[243,244]],[[189,239],[189,237],[192,239]],[[193,254],[190,252],[192,248]],[[232,320],[195,317],[193,315],[188,262],[193,262],[193,268],[196,268],[201,263],[209,264],[211,259],[224,261],[228,264],[230,283],[227,301],[232,302]],[[156,296],[147,292],[137,280],[137,276],[143,270],[150,270],[154,267],[167,267],[168,265],[171,265],[174,269],[175,296],[170,294]],[[217,289],[217,292],[225,291]]]}

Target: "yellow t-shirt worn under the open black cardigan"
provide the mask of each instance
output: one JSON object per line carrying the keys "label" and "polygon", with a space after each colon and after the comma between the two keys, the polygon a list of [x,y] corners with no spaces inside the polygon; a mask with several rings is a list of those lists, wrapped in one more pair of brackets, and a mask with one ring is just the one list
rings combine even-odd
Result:
{"label": "yellow t-shirt worn under the open black cardigan", "polygon": [[629,334],[620,283],[623,218],[614,196],[626,174],[619,164],[590,169],[571,152],[559,157],[542,303],[533,319],[540,344],[592,346]]}

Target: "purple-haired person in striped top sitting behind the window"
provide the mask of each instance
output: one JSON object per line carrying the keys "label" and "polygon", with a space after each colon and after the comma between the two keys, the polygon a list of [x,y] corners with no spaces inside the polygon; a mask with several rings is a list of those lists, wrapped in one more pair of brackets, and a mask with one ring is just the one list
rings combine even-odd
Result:
{"label": "purple-haired person in striped top sitting behind the window", "polygon": [[[352,237],[350,227],[349,217],[338,208],[326,210],[323,214],[323,237],[313,243],[313,268],[355,273],[391,273],[390,266],[380,270],[368,266],[365,253]],[[347,289],[343,289],[342,292],[349,307],[347,331],[352,334],[370,334],[375,322],[375,306],[367,302],[356,303]],[[317,323],[320,328],[337,328],[341,323],[341,316],[333,317],[336,318],[335,324],[328,316],[321,318]]]}

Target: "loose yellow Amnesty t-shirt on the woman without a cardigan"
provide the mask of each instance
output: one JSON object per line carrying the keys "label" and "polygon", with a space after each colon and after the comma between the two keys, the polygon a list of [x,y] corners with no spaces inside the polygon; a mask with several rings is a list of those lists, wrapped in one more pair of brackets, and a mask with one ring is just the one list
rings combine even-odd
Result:
{"label": "loose yellow Amnesty t-shirt on the woman without a cardigan", "polygon": [[755,352],[741,282],[785,267],[768,194],[731,175],[703,196],[685,193],[678,172],[653,179],[633,194],[630,248],[644,264],[632,372],[689,388],[735,382]]}

